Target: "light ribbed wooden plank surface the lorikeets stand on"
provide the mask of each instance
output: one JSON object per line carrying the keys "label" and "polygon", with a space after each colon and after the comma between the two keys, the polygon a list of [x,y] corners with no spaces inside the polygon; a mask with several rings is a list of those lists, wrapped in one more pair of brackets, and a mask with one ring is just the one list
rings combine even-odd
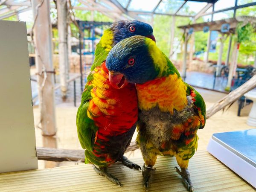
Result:
{"label": "light ribbed wooden plank surface the lorikeets stand on", "polygon": [[[140,166],[143,160],[132,159]],[[158,157],[157,172],[148,191],[186,191],[181,177],[175,172],[175,157]],[[76,165],[53,169],[0,174],[0,191],[143,191],[141,171],[132,170],[121,163],[109,169],[119,178],[122,187],[115,186],[105,177],[93,171],[92,166]],[[189,171],[195,191],[255,191],[234,172],[219,162],[207,151],[198,151],[189,163]]]}

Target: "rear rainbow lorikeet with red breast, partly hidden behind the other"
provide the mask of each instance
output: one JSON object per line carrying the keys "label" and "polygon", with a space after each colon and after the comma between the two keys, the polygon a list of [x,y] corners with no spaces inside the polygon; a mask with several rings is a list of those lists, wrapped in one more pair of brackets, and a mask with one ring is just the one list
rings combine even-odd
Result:
{"label": "rear rainbow lorikeet with red breast, partly hidden behind the other", "polygon": [[121,161],[130,168],[141,169],[123,156],[136,129],[137,95],[134,84],[127,84],[122,90],[110,85],[105,59],[112,47],[124,38],[145,35],[154,40],[152,32],[149,24],[136,20],[117,21],[105,30],[96,46],[95,61],[76,115],[85,163],[92,163],[99,175],[120,186],[119,180],[108,172],[108,166]]}

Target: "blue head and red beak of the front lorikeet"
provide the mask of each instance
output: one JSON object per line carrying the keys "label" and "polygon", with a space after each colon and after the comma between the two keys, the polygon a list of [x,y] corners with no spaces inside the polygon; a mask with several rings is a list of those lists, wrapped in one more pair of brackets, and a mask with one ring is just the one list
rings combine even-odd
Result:
{"label": "blue head and red beak of the front lorikeet", "polygon": [[106,60],[111,85],[122,88],[127,82],[143,84],[155,79],[160,69],[154,64],[152,53],[159,57],[156,60],[163,58],[155,42],[143,36],[126,38],[116,44]]}

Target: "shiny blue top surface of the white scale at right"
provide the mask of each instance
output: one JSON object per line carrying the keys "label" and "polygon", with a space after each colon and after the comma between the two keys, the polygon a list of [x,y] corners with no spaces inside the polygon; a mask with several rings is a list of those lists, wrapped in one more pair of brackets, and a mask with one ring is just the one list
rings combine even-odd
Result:
{"label": "shiny blue top surface of the white scale at right", "polygon": [[256,166],[256,129],[216,133],[212,139]]}

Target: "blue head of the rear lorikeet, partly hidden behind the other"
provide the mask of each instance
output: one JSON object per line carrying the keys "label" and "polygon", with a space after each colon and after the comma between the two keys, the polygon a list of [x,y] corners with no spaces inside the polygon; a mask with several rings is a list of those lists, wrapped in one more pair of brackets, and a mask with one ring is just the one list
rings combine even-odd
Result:
{"label": "blue head of the rear lorikeet, partly hidden behind the other", "polygon": [[155,41],[152,27],[138,20],[119,20],[113,23],[110,29],[113,31],[114,44],[134,35],[142,35]]}

